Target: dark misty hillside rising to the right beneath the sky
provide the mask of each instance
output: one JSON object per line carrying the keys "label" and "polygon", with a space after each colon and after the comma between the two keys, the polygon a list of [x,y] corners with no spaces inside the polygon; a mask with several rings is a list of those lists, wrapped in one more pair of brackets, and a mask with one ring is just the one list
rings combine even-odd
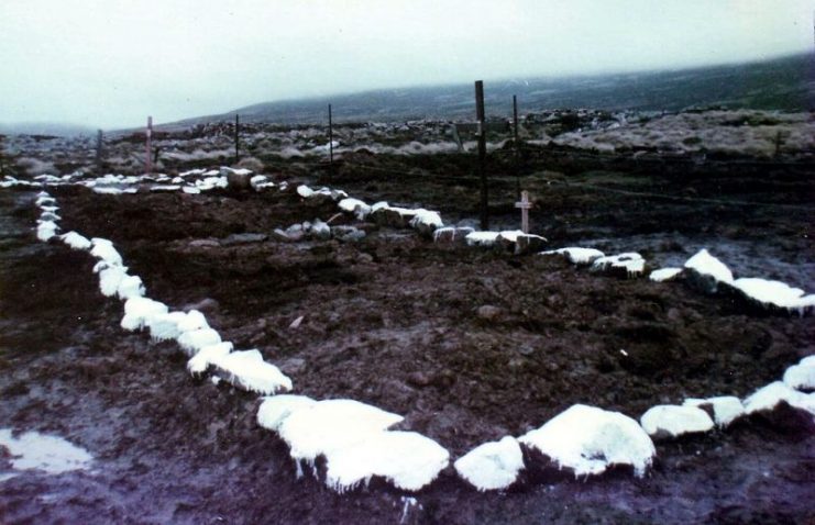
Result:
{"label": "dark misty hillside rising to the right beneath the sky", "polygon": [[[487,113],[508,115],[511,97],[520,111],[555,108],[668,110],[722,105],[769,110],[812,110],[815,104],[815,55],[676,71],[485,81]],[[374,90],[240,108],[183,124],[224,121],[235,113],[246,122],[307,124],[324,122],[331,102],[338,122],[411,119],[471,119],[473,83]]]}

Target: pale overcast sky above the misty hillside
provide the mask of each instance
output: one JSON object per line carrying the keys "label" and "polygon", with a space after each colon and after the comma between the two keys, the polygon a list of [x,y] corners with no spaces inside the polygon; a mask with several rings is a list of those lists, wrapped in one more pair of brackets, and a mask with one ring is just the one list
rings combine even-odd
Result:
{"label": "pale overcast sky above the misty hillside", "polygon": [[0,122],[812,51],[815,0],[0,0]]}

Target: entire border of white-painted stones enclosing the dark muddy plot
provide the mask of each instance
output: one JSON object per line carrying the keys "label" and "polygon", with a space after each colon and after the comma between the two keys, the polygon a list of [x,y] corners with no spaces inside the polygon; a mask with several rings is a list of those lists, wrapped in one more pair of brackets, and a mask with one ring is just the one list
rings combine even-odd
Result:
{"label": "entire border of white-painted stones enclosing the dark muddy plot", "polygon": [[[56,183],[69,182],[59,180]],[[23,186],[33,185],[26,183]],[[304,189],[301,190],[301,188]],[[348,194],[327,188],[315,191],[301,186],[298,187],[298,194],[304,198],[328,194],[334,201],[342,199],[341,203],[345,205],[340,208],[345,212],[355,213],[357,216],[365,210],[366,205],[362,201],[353,202],[352,205],[348,201]],[[56,236],[56,232],[59,230],[57,225],[59,216],[56,214],[58,206],[55,199],[44,191],[36,197],[36,205],[42,212],[37,220],[37,238],[48,242]],[[390,210],[398,215],[410,215],[410,223],[418,216],[429,216],[431,217],[430,225],[434,226],[433,228],[437,227],[434,223],[438,214],[433,215],[434,212],[425,214],[419,211],[393,209],[387,203],[378,203],[371,206],[371,213],[375,211],[375,208]],[[427,211],[422,210],[421,212]],[[418,221],[418,223],[423,224],[422,221]],[[496,238],[500,234],[496,234]],[[280,390],[291,390],[290,379],[285,377],[274,365],[265,362],[257,350],[232,351],[231,343],[222,343],[217,332],[208,327],[202,314],[194,313],[195,311],[170,313],[167,312],[166,305],[145,298],[141,278],[126,273],[126,267],[122,265],[121,256],[109,241],[99,238],[88,241],[76,232],[60,235],[60,239],[73,249],[89,250],[91,255],[100,259],[95,267],[95,271],[100,273],[100,290],[108,297],[117,294],[125,301],[123,327],[130,329],[147,327],[153,333],[155,326],[156,332],[163,334],[162,337],[166,337],[167,326],[169,325],[169,332],[173,333],[173,324],[175,323],[175,336],[167,338],[175,338],[179,346],[191,355],[188,365],[191,372],[195,370],[200,373],[201,370],[206,370],[209,365],[212,365],[218,373],[227,376],[233,386],[243,390],[265,394],[276,393]],[[577,255],[580,260],[573,258],[576,250],[577,248],[563,248],[548,254],[557,253],[565,255],[574,262],[583,261],[584,257],[582,256],[585,253]],[[596,254],[590,255],[592,256],[590,259],[593,258],[595,262],[603,257],[603,255],[598,257],[594,257]],[[608,258],[604,265],[615,266],[619,262],[641,259],[634,257],[634,255],[637,254],[624,254],[625,257]],[[700,260],[702,260],[702,264],[698,264]],[[626,270],[631,271],[627,265],[624,266]],[[706,250],[701,252],[685,264],[686,270],[712,278],[715,283],[735,282],[731,275],[728,279],[729,270],[724,271],[726,267],[724,269],[723,267],[724,265],[711,257]],[[636,270],[641,271],[639,264]],[[671,269],[670,277],[675,277],[680,271]],[[801,294],[795,293],[795,297],[803,295],[803,292]],[[807,295],[804,299],[811,301],[811,298],[812,295]],[[805,305],[805,308],[808,306]],[[173,319],[174,314],[175,319]],[[186,326],[190,329],[184,329],[184,322],[189,316],[199,321]],[[196,358],[198,359],[196,360]],[[258,373],[256,370],[261,370],[261,372]],[[744,415],[772,411],[781,403],[786,403],[794,409],[808,413],[815,422],[815,392],[805,393],[804,390],[815,390],[815,356],[805,357],[797,365],[788,368],[784,373],[784,382],[775,381],[758,389],[744,401],[735,396],[716,396],[702,400],[687,399],[681,406],[653,406],[642,415],[641,426],[636,426],[639,431],[635,431],[635,427],[631,426],[632,420],[623,414],[593,406],[574,405],[537,431],[532,431],[517,440],[506,436],[500,442],[476,446],[459,458],[454,462],[454,468],[462,479],[478,490],[507,489],[517,481],[519,472],[527,467],[524,463],[522,454],[520,461],[518,460],[518,454],[520,453],[518,443],[522,443],[527,447],[547,455],[561,468],[571,469],[575,476],[598,474],[608,467],[620,463],[631,465],[635,468],[635,473],[642,476],[656,456],[656,448],[648,438],[648,434],[654,437],[679,437],[684,434],[708,432],[714,427],[714,420],[716,425],[725,427]],[[300,401],[294,404],[288,401],[298,398]],[[339,426],[337,422],[328,426],[317,423],[315,426],[315,421],[319,422],[322,417],[315,417],[313,411],[318,406],[324,406],[326,403],[330,404],[331,401],[359,404],[363,407],[361,410],[364,413],[386,414],[384,416],[386,417],[386,424],[375,425],[370,432],[362,433],[359,432],[354,418],[345,420],[344,425],[340,424]],[[329,487],[340,492],[366,483],[372,476],[381,476],[399,489],[416,491],[432,482],[439,472],[449,465],[449,454],[432,439],[416,433],[390,432],[387,429],[393,424],[401,421],[401,416],[388,414],[374,406],[351,400],[331,401],[318,402],[308,398],[289,395],[266,398],[261,405],[257,415],[258,424],[277,432],[289,444],[293,458],[297,461],[298,471],[301,459],[313,461],[316,458],[316,456],[301,456],[298,448],[304,439],[301,436],[306,436],[308,440],[311,439],[315,432],[328,432],[324,434],[326,436],[334,436],[327,439],[328,442],[335,440],[337,435],[341,436],[339,447],[331,443],[318,443],[317,445],[317,455],[326,456],[328,459],[326,481]],[[279,406],[283,406],[283,409]],[[703,409],[711,410],[714,418],[712,420]],[[277,414],[276,417],[271,417],[268,415],[269,411]],[[296,431],[298,428],[297,422],[304,420],[306,423],[299,425],[305,426],[306,432],[300,431],[300,434],[298,434]],[[575,432],[576,423],[562,423],[570,421],[580,422],[581,432]],[[291,426],[295,431],[291,431]],[[300,437],[291,437],[293,434]],[[609,434],[617,437],[609,438]],[[645,439],[648,439],[647,443],[643,436]],[[343,442],[343,438],[346,440]],[[648,444],[650,444],[650,447]],[[409,453],[417,450],[417,448],[423,448],[423,450],[412,459],[418,461],[418,465],[423,465],[425,468],[420,469],[421,476],[411,477],[410,473],[415,473],[417,465],[416,462],[405,461],[405,458],[410,458]],[[626,450],[628,450],[628,454],[626,454]],[[365,468],[360,469],[360,465],[370,459],[372,454],[375,458],[375,465],[368,466],[367,470]],[[604,458],[604,460],[598,461],[597,458]],[[399,463],[396,469],[393,468],[394,461]]]}

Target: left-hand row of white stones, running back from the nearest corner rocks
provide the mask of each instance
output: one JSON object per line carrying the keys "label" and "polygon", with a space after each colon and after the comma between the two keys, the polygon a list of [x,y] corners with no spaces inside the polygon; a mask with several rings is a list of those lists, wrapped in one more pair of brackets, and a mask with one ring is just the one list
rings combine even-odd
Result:
{"label": "left-hand row of white stones, running back from the nearest corner rocks", "polygon": [[448,450],[415,432],[388,428],[404,420],[353,400],[315,401],[301,395],[268,395],[293,389],[291,380],[277,367],[263,360],[256,349],[235,351],[221,340],[201,312],[169,312],[145,297],[145,287],[128,267],[113,244],[103,238],[88,239],[77,232],[57,235],[60,219],[56,200],[46,192],[36,197],[41,209],[37,238],[58,237],[73,249],[89,252],[99,259],[93,271],[106,297],[124,301],[121,326],[128,331],[147,329],[154,340],[174,339],[190,357],[187,368],[198,376],[211,371],[236,388],[267,395],[257,414],[258,423],[277,432],[289,445],[298,470],[301,462],[315,467],[318,456],[327,459],[326,482],[342,492],[373,476],[396,488],[416,491],[432,482],[450,463]]}

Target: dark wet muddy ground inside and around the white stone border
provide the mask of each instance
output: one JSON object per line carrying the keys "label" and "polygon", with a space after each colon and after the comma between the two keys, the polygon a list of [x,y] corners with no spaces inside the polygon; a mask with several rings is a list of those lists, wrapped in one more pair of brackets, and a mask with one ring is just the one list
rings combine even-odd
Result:
{"label": "dark wet muddy ground inside and around the white stone border", "polygon": [[[450,160],[423,161],[440,172]],[[737,271],[813,288],[812,212],[551,182],[703,198],[715,191],[717,199],[805,208],[812,178],[786,174],[768,187],[751,175],[564,175],[536,166],[524,177],[537,198],[533,230],[554,247],[637,248],[661,266],[705,245]],[[330,182],[368,201],[441,209],[448,221],[477,216],[472,188],[460,180],[417,185],[341,170]],[[495,188],[496,224],[514,225],[513,185],[507,178],[507,188]],[[576,402],[638,417],[685,396],[744,396],[815,353],[812,317],[761,315],[682,283],[595,276],[548,257],[439,246],[373,225],[363,225],[368,235],[356,244],[228,241],[334,214],[333,205],[302,203],[293,191],[52,193],[62,226],[113,241],[150,297],[200,308],[225,339],[261,349],[287,371],[298,393],[404,414],[404,426],[454,457]],[[90,472],[2,482],[3,522],[400,521],[401,494],[379,483],[338,495],[311,478],[296,480],[285,446],[255,423],[254,395],[195,381],[172,345],[122,332],[121,304],[98,292],[91,258],[34,238],[33,193],[0,199],[0,426],[58,434],[97,458]],[[289,328],[300,315],[299,328]],[[422,509],[406,522],[806,523],[815,518],[815,439],[778,423],[752,418],[659,444],[658,465],[641,480],[538,479],[480,494],[445,471],[417,495]]]}

